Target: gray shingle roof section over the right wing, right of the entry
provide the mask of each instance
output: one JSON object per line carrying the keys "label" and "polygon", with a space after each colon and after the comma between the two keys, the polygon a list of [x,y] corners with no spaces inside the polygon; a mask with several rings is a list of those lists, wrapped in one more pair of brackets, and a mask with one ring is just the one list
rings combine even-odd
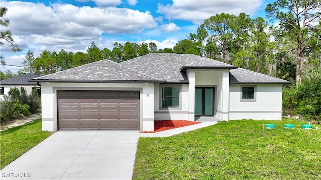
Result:
{"label": "gray shingle roof section over the right wing, right of the entry", "polygon": [[291,83],[272,76],[253,72],[243,68],[230,70],[230,83]]}

